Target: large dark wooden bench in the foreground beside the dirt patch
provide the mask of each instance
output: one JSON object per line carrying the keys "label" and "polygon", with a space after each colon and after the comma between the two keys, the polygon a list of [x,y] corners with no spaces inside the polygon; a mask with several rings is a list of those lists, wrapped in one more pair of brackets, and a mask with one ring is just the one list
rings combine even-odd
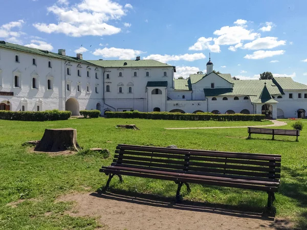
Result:
{"label": "large dark wooden bench in the foreground beside the dirt patch", "polygon": [[178,184],[176,200],[183,184],[223,186],[268,193],[268,207],[280,183],[281,155],[172,149],[135,145],[118,145],[111,166],[100,169],[109,175],[104,190],[113,176],[121,175],[172,180]]}

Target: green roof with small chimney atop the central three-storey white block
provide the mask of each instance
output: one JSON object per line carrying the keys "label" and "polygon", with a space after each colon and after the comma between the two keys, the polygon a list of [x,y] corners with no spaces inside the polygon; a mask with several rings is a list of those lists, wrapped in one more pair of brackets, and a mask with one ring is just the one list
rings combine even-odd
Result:
{"label": "green roof with small chimney atop the central three-storey white block", "polygon": [[[174,67],[156,60],[88,60],[103,67]],[[127,63],[124,65],[124,63]]]}

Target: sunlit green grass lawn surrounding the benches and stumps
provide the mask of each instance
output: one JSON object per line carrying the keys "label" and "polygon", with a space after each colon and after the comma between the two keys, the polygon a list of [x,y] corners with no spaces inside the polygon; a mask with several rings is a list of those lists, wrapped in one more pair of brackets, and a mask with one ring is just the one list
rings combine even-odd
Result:
{"label": "sunlit green grass lawn surrounding the benches and stumps", "polygon": [[[294,121],[284,120],[292,129]],[[72,191],[97,191],[105,185],[107,176],[99,173],[101,165],[109,165],[116,145],[149,146],[177,145],[180,148],[219,151],[271,153],[282,155],[281,185],[276,194],[276,217],[294,221],[298,229],[307,228],[307,131],[303,129],[299,142],[295,137],[252,135],[246,128],[166,130],[171,127],[216,127],[258,125],[260,122],[160,121],[140,119],[71,119],[55,122],[18,122],[0,120],[0,229],[95,229],[95,218],[65,215],[70,202],[55,202],[56,197]],[[136,124],[140,130],[115,128],[118,124]],[[259,125],[270,124],[261,122]],[[26,141],[39,140],[45,128],[77,129],[77,139],[83,152],[51,157],[29,153]],[[94,154],[87,149],[100,147],[111,156]],[[174,197],[176,185],[170,181],[124,176],[124,183],[114,178],[111,187],[126,192],[143,192]],[[85,188],[90,188],[86,190]],[[264,209],[265,192],[233,188],[191,185],[191,193],[182,190],[184,199],[234,205],[250,210]],[[13,208],[7,203],[25,200]],[[51,213],[51,215],[46,215]]]}

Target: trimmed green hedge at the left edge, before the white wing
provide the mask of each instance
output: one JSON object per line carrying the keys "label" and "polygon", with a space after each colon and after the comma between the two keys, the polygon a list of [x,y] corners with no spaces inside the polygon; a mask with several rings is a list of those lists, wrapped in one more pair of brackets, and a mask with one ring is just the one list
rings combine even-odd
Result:
{"label": "trimmed green hedge at the left edge, before the white wing", "polygon": [[71,111],[46,110],[46,111],[6,111],[0,110],[1,120],[12,121],[57,121],[68,120]]}

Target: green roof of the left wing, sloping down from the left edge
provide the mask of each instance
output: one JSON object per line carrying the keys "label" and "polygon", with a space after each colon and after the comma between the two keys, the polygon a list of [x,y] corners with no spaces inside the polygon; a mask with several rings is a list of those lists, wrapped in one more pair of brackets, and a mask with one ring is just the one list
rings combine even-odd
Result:
{"label": "green roof of the left wing, sloping down from the left edge", "polygon": [[6,49],[11,49],[11,50],[16,50],[16,51],[21,51],[21,52],[26,52],[26,53],[31,53],[34,55],[40,55],[40,56],[45,56],[48,58],[58,58],[62,60],[67,60],[67,61],[74,61],[74,62],[79,62],[87,65],[93,65],[90,62],[87,62],[85,60],[78,59],[77,57],[70,57],[70,56],[63,56],[57,53],[53,53],[50,51],[46,50],[39,50],[35,48],[30,48],[30,47],[24,47],[23,45],[18,45],[18,44],[13,44],[9,42],[0,42],[0,48],[6,48]]}

